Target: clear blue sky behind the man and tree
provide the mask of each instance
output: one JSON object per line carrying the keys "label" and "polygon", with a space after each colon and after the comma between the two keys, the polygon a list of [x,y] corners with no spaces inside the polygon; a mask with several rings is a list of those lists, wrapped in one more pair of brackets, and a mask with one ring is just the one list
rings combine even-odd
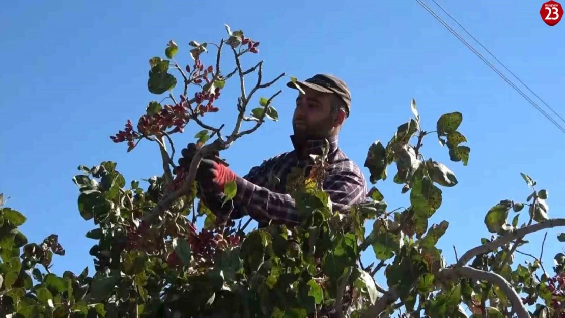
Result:
{"label": "clear blue sky behind the man and tree", "polygon": [[[541,3],[441,2],[565,114],[565,66],[560,62],[565,24],[544,24]],[[433,136],[423,147],[428,158],[447,164],[460,182],[444,188],[444,203],[432,218],[450,221],[439,243],[449,262],[454,260],[452,245],[462,255],[481,237],[489,237],[483,219],[491,206],[501,199],[525,200],[529,190],[520,172],[534,177],[539,189],[549,190],[550,216],[563,216],[563,134],[415,1],[12,1],[0,11],[0,29],[6,31],[0,37],[0,59],[5,61],[0,76],[0,192],[11,197],[8,206],[29,217],[23,230],[30,241],[59,234],[67,255],[54,259],[56,272],[92,265],[88,250],[94,241],[84,234],[94,225],[80,217],[79,193],[71,181],[78,165],[113,160],[128,181],[159,173],[156,144],[142,142],[127,153],[125,144],[109,138],[128,118],[136,123],[149,101],[162,98],[147,91],[147,60],[164,56],[172,39],[180,47],[178,60],[192,64],[188,42],[219,42],[224,23],[260,41],[259,57],[243,63],[251,66],[264,59],[265,78],[286,72],[305,79],[328,72],[349,84],[353,106],[340,140],[360,166],[372,142],[388,142],[408,120],[411,98],[427,130],[435,130],[441,114],[463,113],[460,131],[471,147],[467,167],[450,162],[447,149]],[[205,60],[211,62],[212,56]],[[280,121],[264,124],[259,133],[225,151],[241,175],[292,147],[288,137],[296,92],[284,83],[264,92],[284,89],[273,103]],[[228,81],[217,104],[222,111],[207,117],[208,123],[233,127],[236,88]],[[177,149],[192,142],[198,130],[189,127],[177,136]],[[255,155],[250,156],[250,149]],[[392,178],[377,186],[390,207],[408,206],[408,195],[400,194],[401,186]],[[523,214],[520,223],[527,221],[527,211]],[[550,230],[547,237],[549,271],[553,255],[562,250],[558,233]],[[522,250],[538,255],[542,237],[528,237],[532,244]],[[367,255],[364,260],[370,259]]]}

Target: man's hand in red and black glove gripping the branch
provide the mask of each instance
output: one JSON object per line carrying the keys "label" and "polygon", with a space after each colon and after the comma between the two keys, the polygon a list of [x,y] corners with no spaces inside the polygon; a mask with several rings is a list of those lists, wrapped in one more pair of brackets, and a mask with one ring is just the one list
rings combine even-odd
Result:
{"label": "man's hand in red and black glove gripping the branch", "polygon": [[[190,163],[198,151],[194,143],[189,143],[186,148],[181,150],[182,157],[179,158],[179,167],[186,171],[190,168]],[[220,159],[219,153],[211,154],[202,159],[196,173],[196,180],[206,190],[216,190],[223,192],[225,184],[235,181],[236,173],[227,167]]]}

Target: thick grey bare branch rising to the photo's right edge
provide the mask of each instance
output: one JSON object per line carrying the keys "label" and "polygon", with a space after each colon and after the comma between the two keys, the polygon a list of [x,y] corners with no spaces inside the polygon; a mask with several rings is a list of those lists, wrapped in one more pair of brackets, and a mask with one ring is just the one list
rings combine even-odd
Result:
{"label": "thick grey bare branch rising to the photo's right edge", "polygon": [[524,226],[523,228],[520,228],[515,232],[498,237],[492,242],[473,247],[471,250],[468,250],[465,254],[463,254],[463,256],[461,256],[455,266],[462,267],[463,265],[467,264],[473,257],[489,251],[494,251],[498,249],[498,247],[501,247],[516,238],[524,237],[527,234],[538,232],[543,229],[554,228],[556,226],[565,226],[565,219],[549,219],[542,223]]}

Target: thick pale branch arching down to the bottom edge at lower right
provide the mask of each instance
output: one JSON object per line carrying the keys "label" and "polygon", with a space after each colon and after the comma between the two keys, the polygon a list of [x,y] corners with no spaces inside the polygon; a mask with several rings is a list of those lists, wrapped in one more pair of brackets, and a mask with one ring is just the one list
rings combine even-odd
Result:
{"label": "thick pale branch arching down to the bottom edge at lower right", "polygon": [[459,278],[467,277],[472,278],[473,280],[488,281],[493,285],[497,285],[510,299],[510,302],[512,303],[512,310],[516,312],[518,318],[530,318],[528,310],[526,310],[524,304],[520,300],[520,295],[516,293],[516,290],[514,290],[512,285],[510,285],[504,277],[497,273],[485,272],[480,269],[464,266],[440,269],[438,276],[447,280],[458,280]]}

